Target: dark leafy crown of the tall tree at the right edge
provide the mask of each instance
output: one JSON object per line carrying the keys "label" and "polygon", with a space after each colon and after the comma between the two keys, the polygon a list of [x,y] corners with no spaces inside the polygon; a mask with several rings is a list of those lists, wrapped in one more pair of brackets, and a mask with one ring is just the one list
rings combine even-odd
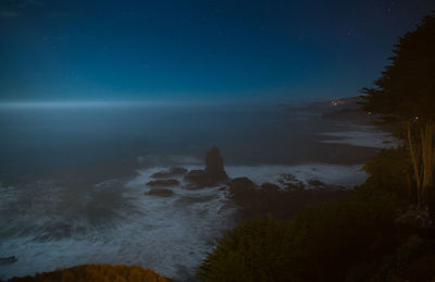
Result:
{"label": "dark leafy crown of the tall tree at the right edge", "polygon": [[423,19],[415,30],[399,38],[391,64],[363,88],[368,111],[405,119],[435,119],[435,15]]}

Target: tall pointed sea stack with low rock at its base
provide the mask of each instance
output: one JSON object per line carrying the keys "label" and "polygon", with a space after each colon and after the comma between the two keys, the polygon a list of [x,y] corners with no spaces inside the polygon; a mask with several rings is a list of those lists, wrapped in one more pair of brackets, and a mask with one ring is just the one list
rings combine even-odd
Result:
{"label": "tall pointed sea stack with low rock at its base", "polygon": [[204,170],[191,170],[184,179],[196,188],[213,186],[227,181],[228,175],[225,172],[224,159],[219,148],[213,147],[207,152]]}

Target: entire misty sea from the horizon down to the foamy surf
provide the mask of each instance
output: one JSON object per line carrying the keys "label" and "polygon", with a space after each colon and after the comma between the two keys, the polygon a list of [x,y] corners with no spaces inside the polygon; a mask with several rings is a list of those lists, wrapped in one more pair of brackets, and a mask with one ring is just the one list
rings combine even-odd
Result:
{"label": "entire misty sea from the horizon down to the foamy surf", "polygon": [[187,279],[236,208],[219,187],[188,191],[181,177],[173,197],[144,195],[152,173],[202,168],[216,145],[231,177],[346,185],[363,181],[359,165],[376,151],[344,144],[355,125],[296,107],[66,106],[0,107],[0,257],[18,259],[0,266],[2,279],[86,262]]}

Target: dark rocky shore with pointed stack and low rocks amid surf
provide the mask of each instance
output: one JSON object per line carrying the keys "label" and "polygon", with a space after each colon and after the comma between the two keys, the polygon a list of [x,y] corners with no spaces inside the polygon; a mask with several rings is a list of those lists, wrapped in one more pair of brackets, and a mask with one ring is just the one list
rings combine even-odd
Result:
{"label": "dark rocky shore with pointed stack and low rocks amid surf", "polygon": [[[172,179],[183,176],[183,183]],[[206,154],[206,167],[202,170],[185,168],[171,168],[165,171],[151,174],[148,182],[151,186],[146,195],[157,197],[172,197],[171,187],[182,185],[186,189],[202,189],[217,187],[216,193],[224,193],[227,200],[239,207],[238,220],[252,219],[268,213],[279,219],[289,219],[295,212],[307,206],[324,201],[340,201],[347,199],[350,191],[340,185],[325,184],[318,179],[309,179],[306,182],[298,180],[290,173],[283,173],[274,183],[254,183],[247,176],[228,177],[224,159],[217,147],[212,147]],[[202,199],[202,198],[201,198]],[[209,198],[206,197],[208,200]],[[190,197],[185,203],[197,201]]]}

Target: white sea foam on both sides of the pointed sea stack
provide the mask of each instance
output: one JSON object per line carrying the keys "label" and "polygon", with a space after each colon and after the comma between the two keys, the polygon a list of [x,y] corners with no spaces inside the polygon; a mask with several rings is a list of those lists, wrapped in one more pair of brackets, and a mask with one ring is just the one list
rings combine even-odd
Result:
{"label": "white sea foam on both sides of the pointed sea stack", "polygon": [[[191,170],[201,165],[185,168]],[[350,187],[364,181],[366,175],[360,168],[361,165],[314,163],[229,165],[226,167],[226,171],[231,177],[248,176],[257,184],[277,183],[282,174],[293,174],[304,183],[307,180],[316,179],[326,184]],[[18,232],[12,236],[3,236],[0,242],[0,257],[15,256],[17,261],[0,266],[0,278],[52,271],[88,262],[107,262],[139,265],[166,277],[188,279],[188,275],[195,273],[207,252],[212,249],[214,240],[220,237],[224,230],[234,226],[232,216],[237,208],[227,201],[224,192],[219,187],[195,191],[183,188],[182,176],[176,177],[182,185],[171,188],[174,192],[172,197],[145,195],[149,191],[145,184],[151,180],[150,175],[165,169],[167,168],[140,170],[127,182],[102,182],[95,186],[95,191],[78,198],[79,201],[92,203],[91,197],[119,189],[123,205],[114,210],[115,217],[110,221],[108,219],[109,222],[103,226],[92,225],[84,217],[71,218],[67,216],[70,213],[61,213],[61,188],[39,189],[38,193],[44,194],[39,197],[50,196],[50,200],[45,201],[46,208],[35,206],[40,209],[36,213],[20,206],[26,191],[3,188],[8,193],[4,194],[7,197],[2,197],[2,204],[8,201],[17,210],[22,210],[21,214],[14,216],[14,220],[9,218],[9,223],[23,224],[22,229],[34,224],[34,228],[29,229],[29,233]],[[86,198],[88,199],[85,200]],[[1,214],[2,218],[8,218],[4,216]],[[63,225],[67,225],[69,231],[64,236],[44,236],[48,232],[47,226],[58,232],[57,224],[62,222]]]}

